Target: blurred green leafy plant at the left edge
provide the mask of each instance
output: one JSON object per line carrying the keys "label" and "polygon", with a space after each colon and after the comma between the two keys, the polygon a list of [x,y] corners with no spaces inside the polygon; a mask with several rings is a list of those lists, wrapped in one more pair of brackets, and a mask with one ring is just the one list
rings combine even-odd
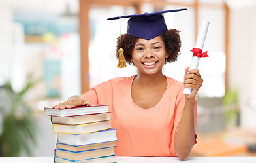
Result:
{"label": "blurred green leafy plant at the left edge", "polygon": [[38,82],[28,75],[20,92],[14,92],[10,82],[0,87],[0,156],[18,156],[20,151],[31,156],[29,144],[36,144],[37,125],[24,97]]}

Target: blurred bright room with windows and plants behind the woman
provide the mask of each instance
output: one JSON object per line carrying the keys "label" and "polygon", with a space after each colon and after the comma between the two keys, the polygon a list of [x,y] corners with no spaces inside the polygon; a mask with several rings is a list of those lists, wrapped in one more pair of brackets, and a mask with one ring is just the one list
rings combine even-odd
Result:
{"label": "blurred bright room with windows and plants behind the woman", "polygon": [[132,65],[116,68],[116,38],[128,19],[107,18],[181,7],[187,10],[164,15],[182,39],[181,55],[164,66],[165,75],[182,81],[199,26],[210,22],[203,50],[210,57],[199,64],[198,146],[218,137],[246,147],[224,156],[256,156],[253,0],[0,0],[0,156],[54,156],[56,135],[44,107],[136,74]]}

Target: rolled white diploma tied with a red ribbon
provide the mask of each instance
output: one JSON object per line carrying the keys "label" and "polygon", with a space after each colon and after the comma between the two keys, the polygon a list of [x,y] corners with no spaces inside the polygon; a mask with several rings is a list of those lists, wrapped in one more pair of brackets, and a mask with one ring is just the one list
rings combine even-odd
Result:
{"label": "rolled white diploma tied with a red ribbon", "polygon": [[[200,26],[199,33],[197,35],[197,41],[195,43],[195,48],[191,50],[193,52],[193,57],[191,60],[191,65],[189,67],[189,70],[192,69],[197,69],[199,65],[199,61],[201,57],[206,57],[207,52],[201,53],[204,47],[204,41],[206,39],[206,33],[208,31],[208,26],[209,26],[208,21],[204,20]],[[183,90],[184,94],[191,94],[191,88],[184,88]]]}

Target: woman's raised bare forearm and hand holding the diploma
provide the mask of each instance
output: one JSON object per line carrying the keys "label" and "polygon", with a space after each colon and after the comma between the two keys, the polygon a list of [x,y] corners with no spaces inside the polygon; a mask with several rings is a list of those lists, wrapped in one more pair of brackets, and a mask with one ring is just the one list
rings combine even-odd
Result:
{"label": "woman's raised bare forearm and hand holding the diploma", "polygon": [[197,69],[185,70],[184,86],[192,88],[191,95],[186,95],[185,105],[175,137],[175,151],[180,160],[189,157],[189,153],[195,144],[195,123],[194,123],[194,103],[195,96],[202,86],[202,78]]}

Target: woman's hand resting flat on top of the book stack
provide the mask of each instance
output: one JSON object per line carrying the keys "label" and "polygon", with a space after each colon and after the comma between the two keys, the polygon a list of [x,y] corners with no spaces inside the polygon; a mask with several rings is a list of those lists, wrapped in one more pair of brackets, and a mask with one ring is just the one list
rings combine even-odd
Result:
{"label": "woman's hand resting flat on top of the book stack", "polygon": [[82,105],[87,105],[89,107],[91,107],[91,103],[87,100],[85,100],[84,98],[82,98],[81,96],[75,95],[75,96],[71,96],[67,99],[67,101],[63,102],[63,103],[59,103],[58,105],[53,106],[53,109],[65,109],[65,108],[72,108],[72,107],[79,107]]}

